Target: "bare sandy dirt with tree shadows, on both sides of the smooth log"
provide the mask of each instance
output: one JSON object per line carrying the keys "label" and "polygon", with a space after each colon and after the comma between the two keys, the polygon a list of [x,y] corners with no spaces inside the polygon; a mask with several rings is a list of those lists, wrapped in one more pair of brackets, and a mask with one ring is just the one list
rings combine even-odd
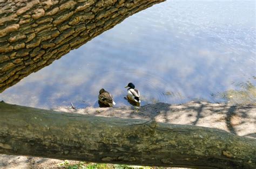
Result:
{"label": "bare sandy dirt with tree shadows, on both sides of the smooth log", "polygon": [[[148,104],[143,107],[72,109],[56,111],[105,117],[155,119],[157,122],[217,128],[243,137],[256,138],[256,103],[246,105],[188,102],[185,104]],[[69,161],[70,164],[78,161]],[[0,168],[58,168],[63,160],[0,155]]]}

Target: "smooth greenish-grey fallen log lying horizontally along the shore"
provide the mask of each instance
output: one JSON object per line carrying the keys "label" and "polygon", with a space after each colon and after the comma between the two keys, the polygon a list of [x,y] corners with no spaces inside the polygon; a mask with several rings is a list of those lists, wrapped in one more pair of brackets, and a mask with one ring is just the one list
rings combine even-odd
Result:
{"label": "smooth greenish-grey fallen log lying horizontally along the shore", "polygon": [[0,103],[0,153],[147,166],[255,168],[255,139],[192,125]]}

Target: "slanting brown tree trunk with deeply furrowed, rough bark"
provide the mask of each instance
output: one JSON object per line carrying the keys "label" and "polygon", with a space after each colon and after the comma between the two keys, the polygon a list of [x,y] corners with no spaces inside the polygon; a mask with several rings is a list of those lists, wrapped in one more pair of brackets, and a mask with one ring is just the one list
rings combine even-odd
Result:
{"label": "slanting brown tree trunk with deeply furrowed, rough bark", "polygon": [[0,1],[0,93],[164,0]]}

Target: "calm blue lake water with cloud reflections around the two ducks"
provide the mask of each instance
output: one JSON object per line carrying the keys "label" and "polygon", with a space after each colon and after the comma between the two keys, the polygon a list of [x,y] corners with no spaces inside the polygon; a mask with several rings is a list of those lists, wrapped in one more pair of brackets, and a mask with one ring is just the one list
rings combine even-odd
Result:
{"label": "calm blue lake water with cloud reflections around the two ducks", "polygon": [[105,88],[116,106],[130,105],[124,87],[133,82],[142,105],[255,102],[255,19],[255,1],[168,0],[29,75],[0,100],[46,109],[71,101],[97,107]]}

